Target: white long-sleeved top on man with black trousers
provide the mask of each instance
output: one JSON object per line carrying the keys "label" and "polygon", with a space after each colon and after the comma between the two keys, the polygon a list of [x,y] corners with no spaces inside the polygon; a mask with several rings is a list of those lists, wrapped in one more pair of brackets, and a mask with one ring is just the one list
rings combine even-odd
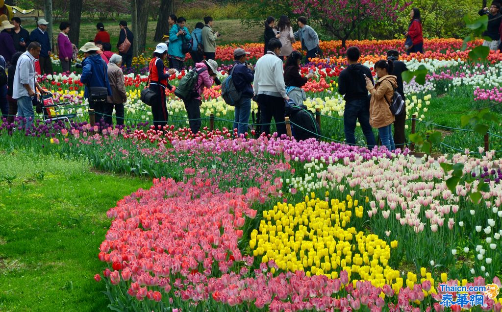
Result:
{"label": "white long-sleeved top on man with black trousers", "polygon": [[282,98],[287,96],[283,61],[275,53],[267,52],[256,63],[253,91],[255,94],[268,94]]}

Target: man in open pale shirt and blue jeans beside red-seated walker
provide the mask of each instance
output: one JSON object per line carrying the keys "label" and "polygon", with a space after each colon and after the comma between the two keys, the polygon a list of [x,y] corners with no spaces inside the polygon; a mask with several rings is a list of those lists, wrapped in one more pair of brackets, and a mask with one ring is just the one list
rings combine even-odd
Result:
{"label": "man in open pale shirt and blue jeans beside red-seated walker", "polygon": [[26,129],[31,128],[35,118],[32,102],[36,95],[35,86],[41,93],[45,93],[35,78],[35,59],[40,55],[41,49],[38,42],[30,43],[27,51],[19,57],[14,74],[12,98],[18,101],[18,116],[26,118]]}

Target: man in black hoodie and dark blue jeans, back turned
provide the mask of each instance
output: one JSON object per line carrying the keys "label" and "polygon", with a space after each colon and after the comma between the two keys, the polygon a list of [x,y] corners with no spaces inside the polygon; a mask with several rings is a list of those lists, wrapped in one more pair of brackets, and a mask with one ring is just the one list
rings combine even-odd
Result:
{"label": "man in black hoodie and dark blue jeans, back turned", "polygon": [[373,148],[376,145],[376,140],[369,125],[369,95],[365,80],[365,77],[368,77],[373,83],[373,76],[369,68],[357,62],[360,55],[359,48],[348,48],[347,61],[349,65],[340,72],[338,77],[338,92],[345,99],[343,130],[345,142],[355,145],[354,131],[356,122],[359,120],[362,132],[366,137],[366,143],[369,148]]}

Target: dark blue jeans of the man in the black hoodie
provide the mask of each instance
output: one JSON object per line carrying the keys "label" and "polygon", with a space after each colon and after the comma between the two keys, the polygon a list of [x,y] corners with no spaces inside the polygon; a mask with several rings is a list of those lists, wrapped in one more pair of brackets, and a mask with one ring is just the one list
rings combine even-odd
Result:
{"label": "dark blue jeans of the man in the black hoodie", "polygon": [[372,148],[376,145],[376,140],[369,125],[369,98],[345,102],[343,131],[345,132],[345,142],[349,145],[355,145],[354,131],[357,120],[359,120],[362,133],[366,137],[366,143]]}

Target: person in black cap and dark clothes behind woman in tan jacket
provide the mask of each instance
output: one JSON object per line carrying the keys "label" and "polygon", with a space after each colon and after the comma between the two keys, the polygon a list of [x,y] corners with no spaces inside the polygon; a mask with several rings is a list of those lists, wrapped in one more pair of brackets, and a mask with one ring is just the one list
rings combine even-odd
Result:
{"label": "person in black cap and dark clothes behind woman in tan jacket", "polygon": [[[403,72],[407,71],[408,68],[406,64],[402,61],[398,61],[399,52],[397,50],[387,51],[387,60],[393,62],[393,70],[390,73],[393,76],[398,77],[398,88],[397,91],[405,99],[405,91],[403,87]],[[396,120],[394,121],[394,142],[396,143],[396,148],[403,149],[406,146],[405,137],[405,121],[406,121],[406,105],[399,115],[396,115]]]}

